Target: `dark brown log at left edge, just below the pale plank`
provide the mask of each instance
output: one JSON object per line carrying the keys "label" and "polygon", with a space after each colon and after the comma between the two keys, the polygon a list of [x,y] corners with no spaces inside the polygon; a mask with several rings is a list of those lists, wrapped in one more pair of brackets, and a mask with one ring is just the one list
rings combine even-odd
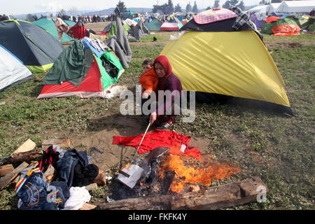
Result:
{"label": "dark brown log at left edge, just below the pale plank", "polygon": [[39,160],[43,155],[42,152],[29,151],[25,153],[15,153],[14,157],[8,157],[1,160],[1,165],[12,164],[14,166],[20,165],[22,162],[31,162],[33,160]]}

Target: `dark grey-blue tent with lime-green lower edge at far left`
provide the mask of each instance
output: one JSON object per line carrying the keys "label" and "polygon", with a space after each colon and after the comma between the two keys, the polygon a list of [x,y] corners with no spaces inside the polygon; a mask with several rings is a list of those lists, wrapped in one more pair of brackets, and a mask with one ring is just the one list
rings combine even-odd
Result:
{"label": "dark grey-blue tent with lime-green lower edge at far left", "polygon": [[33,73],[50,69],[64,50],[45,29],[23,20],[0,22],[0,44]]}

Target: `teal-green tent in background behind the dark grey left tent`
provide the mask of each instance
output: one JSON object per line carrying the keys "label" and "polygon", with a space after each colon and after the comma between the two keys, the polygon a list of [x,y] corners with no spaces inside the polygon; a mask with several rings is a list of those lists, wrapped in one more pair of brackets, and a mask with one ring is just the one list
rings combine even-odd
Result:
{"label": "teal-green tent in background behind the dark grey left tent", "polygon": [[[66,22],[66,21],[64,21],[64,22]],[[69,25],[69,24],[71,24],[70,22],[73,22],[73,21],[67,21],[66,24]],[[45,31],[50,33],[57,41],[59,40],[57,27],[55,26],[54,20],[52,20],[50,18],[41,18],[40,20],[31,22],[31,23],[34,25],[38,25],[38,27],[45,29]],[[75,22],[73,22],[73,23],[74,23],[74,25],[76,24]],[[69,26],[73,26],[73,25],[69,25]],[[61,43],[66,43],[66,42],[73,41],[73,40],[74,39],[72,37],[68,36],[67,34],[62,34]]]}

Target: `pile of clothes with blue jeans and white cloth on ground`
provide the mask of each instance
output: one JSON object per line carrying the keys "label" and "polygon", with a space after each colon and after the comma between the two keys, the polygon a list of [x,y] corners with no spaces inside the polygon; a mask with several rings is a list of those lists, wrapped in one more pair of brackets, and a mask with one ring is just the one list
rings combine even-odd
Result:
{"label": "pile of clothes with blue jeans and white cloth on ground", "polygon": [[[99,174],[99,168],[90,163],[86,151],[75,148],[63,151],[57,145],[48,147],[38,167],[22,170],[15,192],[20,198],[21,210],[78,210],[90,201],[85,186],[91,184]],[[43,173],[52,166],[57,179],[47,183]]]}

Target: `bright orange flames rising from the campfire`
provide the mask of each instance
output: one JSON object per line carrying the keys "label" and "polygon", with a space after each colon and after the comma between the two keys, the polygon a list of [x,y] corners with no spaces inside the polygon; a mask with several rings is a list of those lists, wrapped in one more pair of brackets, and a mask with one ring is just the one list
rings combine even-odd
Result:
{"label": "bright orange flames rising from the campfire", "polygon": [[[186,165],[187,162],[188,165]],[[211,179],[225,179],[225,177],[230,177],[232,174],[237,174],[241,171],[239,168],[218,162],[204,167],[201,160],[186,155],[170,154],[161,164],[162,167],[159,170],[160,178],[163,178],[165,170],[175,172],[174,181],[170,189],[176,193],[184,190],[186,183],[201,183],[204,186],[211,186]]]}

